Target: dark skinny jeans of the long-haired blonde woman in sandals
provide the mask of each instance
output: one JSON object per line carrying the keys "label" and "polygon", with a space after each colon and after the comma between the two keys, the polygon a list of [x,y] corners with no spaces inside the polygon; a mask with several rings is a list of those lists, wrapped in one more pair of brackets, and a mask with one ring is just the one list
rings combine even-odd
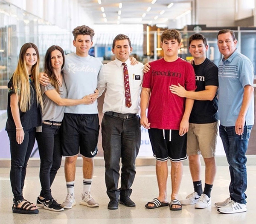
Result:
{"label": "dark skinny jeans of the long-haired blonde woman in sandals", "polygon": [[35,128],[24,130],[22,144],[16,141],[16,131],[8,131],[11,150],[10,181],[15,201],[23,200],[23,187],[26,177],[26,167],[35,144]]}

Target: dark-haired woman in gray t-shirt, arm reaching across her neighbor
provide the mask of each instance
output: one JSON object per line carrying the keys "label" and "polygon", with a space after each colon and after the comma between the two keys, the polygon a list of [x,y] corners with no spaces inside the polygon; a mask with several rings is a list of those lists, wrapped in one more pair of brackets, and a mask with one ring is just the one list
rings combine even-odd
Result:
{"label": "dark-haired woman in gray t-shirt, arm reaching across her neighbor", "polygon": [[44,60],[44,72],[48,75],[48,85],[41,85],[44,111],[42,130],[37,132],[40,154],[41,193],[37,206],[51,211],[63,211],[64,208],[56,202],[51,194],[51,185],[61,166],[61,121],[64,116],[64,106],[91,104],[96,95],[84,96],[82,99],[66,99],[67,88],[61,69],[64,66],[64,51],[53,45],[48,48]]}

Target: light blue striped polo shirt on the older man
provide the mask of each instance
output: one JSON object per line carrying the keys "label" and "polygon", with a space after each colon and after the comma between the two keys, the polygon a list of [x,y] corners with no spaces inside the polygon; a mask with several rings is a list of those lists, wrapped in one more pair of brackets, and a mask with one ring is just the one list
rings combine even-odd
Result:
{"label": "light blue striped polo shirt on the older man", "polygon": [[[224,58],[218,64],[218,112],[223,126],[235,126],[239,115],[244,86],[253,86],[253,64],[243,54],[236,51],[227,60]],[[245,116],[246,125],[254,124],[254,99],[252,97]]]}

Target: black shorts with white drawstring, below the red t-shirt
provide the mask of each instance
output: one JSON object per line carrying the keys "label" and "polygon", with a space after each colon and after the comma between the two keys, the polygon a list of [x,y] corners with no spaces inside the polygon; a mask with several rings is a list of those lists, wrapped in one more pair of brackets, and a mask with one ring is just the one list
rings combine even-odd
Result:
{"label": "black shorts with white drawstring, below the red t-shirt", "polygon": [[148,129],[148,134],[154,157],[157,160],[166,161],[170,159],[172,162],[180,162],[187,159],[186,134],[180,136],[179,130],[163,131],[157,128]]}

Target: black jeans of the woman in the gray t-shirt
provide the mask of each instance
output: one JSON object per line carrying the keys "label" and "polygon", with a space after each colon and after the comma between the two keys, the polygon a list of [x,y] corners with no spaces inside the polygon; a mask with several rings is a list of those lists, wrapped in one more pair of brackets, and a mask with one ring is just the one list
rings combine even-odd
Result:
{"label": "black jeans of the woman in the gray t-shirt", "polygon": [[36,133],[40,154],[40,196],[52,199],[51,185],[61,166],[61,126],[43,124],[42,132]]}

